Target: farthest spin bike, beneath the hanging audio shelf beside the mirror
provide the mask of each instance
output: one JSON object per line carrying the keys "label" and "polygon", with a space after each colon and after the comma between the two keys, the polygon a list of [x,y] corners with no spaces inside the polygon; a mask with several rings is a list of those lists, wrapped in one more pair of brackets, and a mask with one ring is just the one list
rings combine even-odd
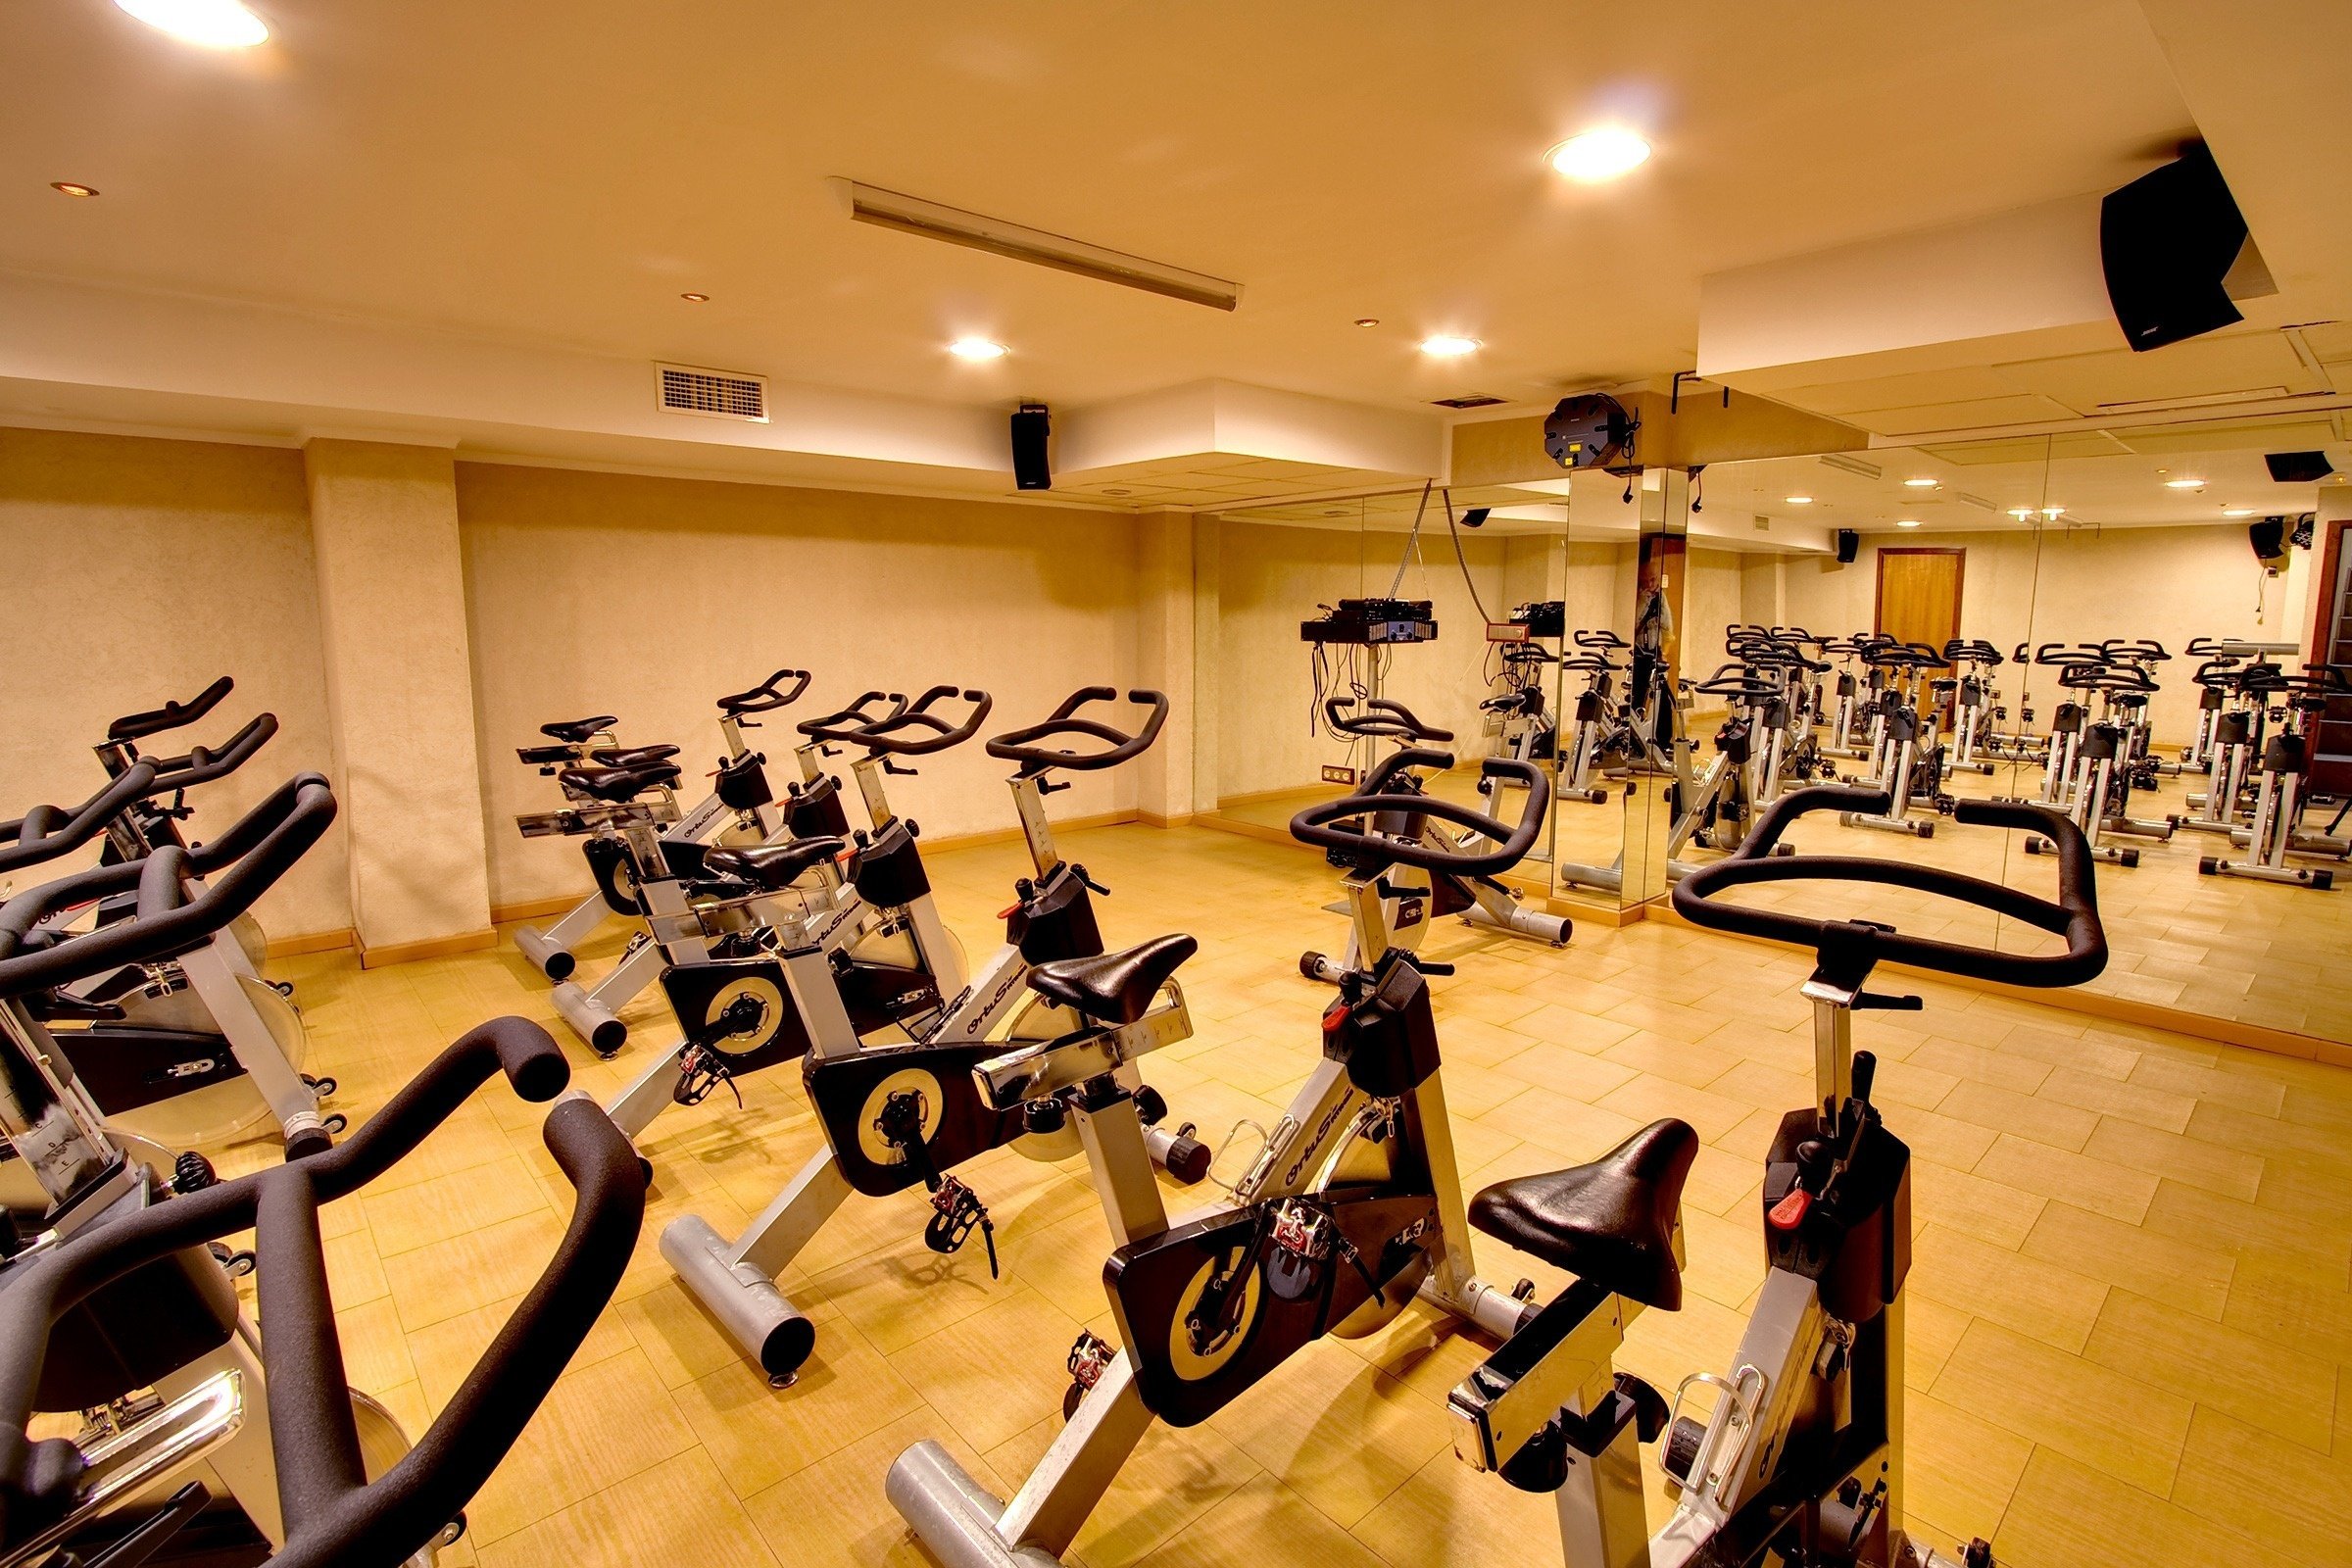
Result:
{"label": "farthest spin bike, beneath the hanging audio shelf beside the mirror", "polygon": [[[1334,733],[1343,733],[1352,741],[1367,741],[1378,745],[1381,741],[1395,741],[1397,752],[1374,764],[1359,785],[1362,795],[1388,795],[1388,797],[1418,797],[1430,799],[1428,776],[1444,773],[1454,766],[1451,752],[1439,752],[1421,745],[1423,741],[1451,741],[1454,733],[1435,729],[1414,717],[1404,703],[1392,703],[1388,698],[1371,698],[1364,712],[1350,712],[1355,708],[1348,698],[1331,698],[1324,703],[1324,719],[1331,724]],[[1541,773],[1529,762],[1517,762],[1517,766],[1496,766],[1498,762],[1515,762],[1508,757],[1489,759],[1479,771],[1479,797],[1496,799],[1503,790],[1522,790],[1531,773]],[[1430,839],[1442,849],[1451,849],[1454,832],[1444,820],[1432,820],[1428,811],[1406,811],[1383,816],[1374,823],[1374,832],[1383,839]],[[1367,863],[1378,860],[1381,846],[1371,849],[1371,860],[1364,856],[1350,856],[1343,849],[1329,849],[1327,858],[1338,870],[1350,877],[1362,875]],[[1564,947],[1573,924],[1566,914],[1545,914],[1529,910],[1519,893],[1503,886],[1496,877],[1446,877],[1432,875],[1425,867],[1404,863],[1390,865],[1385,875],[1376,877],[1381,896],[1381,943],[1374,952],[1388,952],[1390,947],[1402,947],[1406,952],[1418,952],[1423,938],[1428,936],[1430,922],[1444,919],[1449,914],[1461,914],[1463,924],[1482,931],[1501,931],[1505,936],[1524,936],[1552,947]],[[1352,903],[1343,898],[1331,905],[1336,912],[1350,912]],[[1355,943],[1355,926],[1348,929],[1348,940]],[[1362,952],[1352,945],[1341,961],[1324,957],[1322,952],[1298,954],[1298,973],[1308,980],[1324,980],[1327,985],[1338,985],[1338,980],[1362,966]]]}

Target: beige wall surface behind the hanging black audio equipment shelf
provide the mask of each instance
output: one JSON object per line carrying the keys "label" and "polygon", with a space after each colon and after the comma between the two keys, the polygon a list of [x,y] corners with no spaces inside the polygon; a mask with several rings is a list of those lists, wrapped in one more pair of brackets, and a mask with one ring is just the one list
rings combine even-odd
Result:
{"label": "beige wall surface behind the hanging black audio equipment shelf", "polygon": [[[1510,548],[1541,559],[1543,541],[1463,541],[1477,590],[1496,616],[1510,611],[1503,571]],[[1216,656],[1218,795],[1305,788],[1315,783],[1322,764],[1348,759],[1343,745],[1310,726],[1315,684],[1298,623],[1315,616],[1317,604],[1388,595],[1402,552],[1404,534],[1296,529],[1232,517],[1223,522]],[[1454,562],[1454,545],[1442,531],[1421,541],[1421,559],[1406,567],[1397,595],[1430,599],[1437,607],[1439,630],[1437,642],[1392,654],[1385,696],[1411,708],[1423,722],[1451,729],[1461,755],[1484,755],[1489,745],[1477,705],[1491,693],[1489,644]]]}

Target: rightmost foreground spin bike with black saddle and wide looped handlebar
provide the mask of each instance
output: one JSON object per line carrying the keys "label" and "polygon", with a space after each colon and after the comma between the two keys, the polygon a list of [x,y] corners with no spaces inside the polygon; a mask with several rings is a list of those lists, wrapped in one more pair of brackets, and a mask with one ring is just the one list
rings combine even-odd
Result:
{"label": "rightmost foreground spin bike with black saddle and wide looped handlebar", "polygon": [[[2074,825],[2037,806],[1962,802],[1959,820],[2025,827],[2058,844],[2058,903],[1903,860],[1771,858],[1806,811],[1884,813],[1860,790],[1783,797],[1729,860],[1675,886],[1696,926],[1811,947],[1813,1105],[1780,1119],[1764,1157],[1766,1276],[1729,1375],[1682,1380],[1672,1406],[1618,1373],[1625,1324],[1682,1307],[1682,1182],[1698,1133],[1656,1121],[1588,1166],[1477,1194],[1470,1222],[1576,1279],[1451,1394],[1454,1450],[1510,1486],[1550,1493],[1569,1568],[1628,1563],[1804,1563],[1952,1568],[1903,1519],[1903,1284],[1910,1269],[1910,1150],[1870,1103],[1875,1058],[1853,1051],[1853,1013],[1912,1011],[1872,994],[1882,961],[2006,985],[2079,985],[2107,940]],[[1757,882],[1872,882],[1955,898],[2065,936],[2056,957],[2013,957],[1856,919],[1809,919],[1717,903]],[[1675,1514],[1649,1533],[1639,1443],[1665,1439]],[[953,1561],[953,1559],[950,1559]],[[1992,1547],[1969,1544],[1969,1568]]]}

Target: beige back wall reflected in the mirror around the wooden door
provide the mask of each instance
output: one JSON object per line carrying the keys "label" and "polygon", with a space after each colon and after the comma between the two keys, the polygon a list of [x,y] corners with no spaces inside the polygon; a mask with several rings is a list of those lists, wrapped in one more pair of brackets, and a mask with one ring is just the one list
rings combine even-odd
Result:
{"label": "beige back wall reflected in the mirror around the wooden door", "polygon": [[[2281,583],[2263,585],[2246,529],[2070,529],[2044,534],[1900,534],[1863,536],[1851,567],[1832,559],[1788,562],[1788,618],[1825,637],[1867,632],[1877,611],[1877,548],[1943,545],[1969,552],[1959,632],[2002,654],[2020,642],[2098,642],[2154,637],[2176,654],[2159,668],[2164,691],[2152,705],[2159,743],[2187,743],[2197,729],[2192,637],[2300,637],[2281,616]],[[2256,611],[2258,588],[2267,614]],[[2018,675],[1999,670],[1999,691],[2016,701]],[[2056,696],[2049,672],[2034,679],[2034,708]]]}

